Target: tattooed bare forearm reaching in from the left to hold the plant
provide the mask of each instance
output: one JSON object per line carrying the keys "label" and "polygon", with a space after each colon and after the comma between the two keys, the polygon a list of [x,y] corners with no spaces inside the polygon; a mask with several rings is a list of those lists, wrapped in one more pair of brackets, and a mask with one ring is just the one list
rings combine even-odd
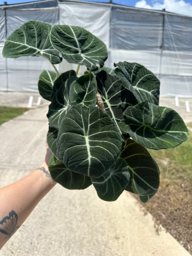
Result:
{"label": "tattooed bare forearm reaching in from the left to hold the plant", "polygon": [[25,178],[0,189],[0,249],[55,184],[44,162]]}

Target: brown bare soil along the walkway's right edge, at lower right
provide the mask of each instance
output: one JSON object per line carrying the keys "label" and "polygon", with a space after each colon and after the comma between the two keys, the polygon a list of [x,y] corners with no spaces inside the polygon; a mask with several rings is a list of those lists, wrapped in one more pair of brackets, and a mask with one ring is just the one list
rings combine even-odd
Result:
{"label": "brown bare soil along the walkway's right edge, at lower right", "polygon": [[[134,194],[133,194],[134,195]],[[134,195],[139,200],[137,195]],[[155,218],[155,229],[161,224],[192,254],[192,183],[161,179],[158,192],[141,205]],[[146,214],[146,212],[144,212]]]}

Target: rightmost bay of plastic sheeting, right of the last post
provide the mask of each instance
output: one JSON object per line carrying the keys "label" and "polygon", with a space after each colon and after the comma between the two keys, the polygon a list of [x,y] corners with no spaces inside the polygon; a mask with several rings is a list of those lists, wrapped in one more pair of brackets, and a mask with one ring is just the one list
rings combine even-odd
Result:
{"label": "rightmost bay of plastic sheeting, right of the last post", "polygon": [[192,97],[192,18],[165,15],[161,97]]}

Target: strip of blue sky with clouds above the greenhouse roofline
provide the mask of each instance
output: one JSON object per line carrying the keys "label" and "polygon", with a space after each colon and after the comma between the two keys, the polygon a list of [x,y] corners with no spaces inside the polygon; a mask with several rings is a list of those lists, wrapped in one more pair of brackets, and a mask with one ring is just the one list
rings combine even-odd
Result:
{"label": "strip of blue sky with clouds above the greenhouse roofline", "polygon": [[[30,2],[31,0],[28,1]],[[109,2],[109,0],[91,1]],[[0,0],[0,4],[3,4],[3,2],[4,0]],[[27,2],[27,0],[7,0],[8,4],[22,2]],[[146,9],[166,9],[166,11],[192,16],[192,0],[113,0],[113,3]]]}

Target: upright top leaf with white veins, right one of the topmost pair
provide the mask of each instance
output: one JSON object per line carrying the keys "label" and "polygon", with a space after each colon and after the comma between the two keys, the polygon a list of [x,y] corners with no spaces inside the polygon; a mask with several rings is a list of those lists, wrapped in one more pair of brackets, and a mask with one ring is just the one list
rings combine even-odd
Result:
{"label": "upright top leaf with white veins, right one of the topmost pair", "polygon": [[67,62],[85,65],[91,71],[103,67],[108,58],[107,46],[82,27],[55,25],[50,40]]}

